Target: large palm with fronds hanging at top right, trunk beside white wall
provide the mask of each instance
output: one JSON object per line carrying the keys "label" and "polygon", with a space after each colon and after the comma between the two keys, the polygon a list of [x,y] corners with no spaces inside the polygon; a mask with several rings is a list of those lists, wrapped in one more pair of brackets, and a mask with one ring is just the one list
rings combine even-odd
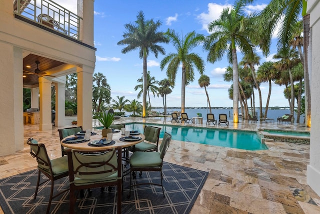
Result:
{"label": "large palm with fronds hanging at top right, trunk beside white wall", "polygon": [[[253,2],[249,0],[248,2]],[[271,0],[270,3],[261,11],[257,17],[256,28],[257,43],[260,43],[260,48],[264,55],[268,55],[271,43],[272,33],[280,24],[280,32],[278,39],[278,51],[289,46],[292,35],[295,34],[295,23],[299,21],[300,13],[302,12],[303,22],[303,70],[304,70],[304,94],[305,94],[305,125],[311,126],[311,97],[310,97],[310,82],[308,71],[308,46],[311,41],[310,31],[310,15],[306,13],[307,1],[303,0]],[[281,22],[281,23],[280,23]],[[310,35],[310,37],[309,37]],[[262,41],[262,45],[261,45]]]}

